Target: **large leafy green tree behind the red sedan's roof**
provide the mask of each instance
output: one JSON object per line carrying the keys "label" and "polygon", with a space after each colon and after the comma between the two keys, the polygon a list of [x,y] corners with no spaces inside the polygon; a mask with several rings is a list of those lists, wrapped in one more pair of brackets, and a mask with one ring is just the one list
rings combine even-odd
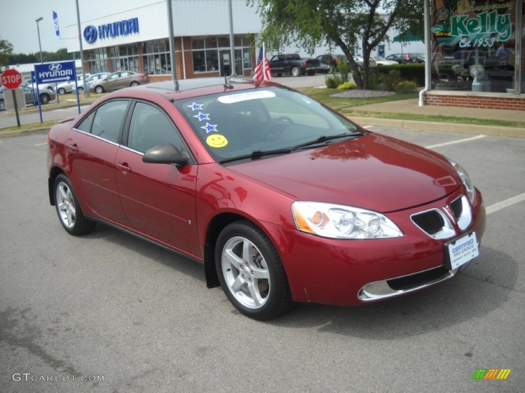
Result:
{"label": "large leafy green tree behind the red sedan's roof", "polygon": [[[428,1],[428,0],[424,0]],[[316,47],[340,48],[349,59],[359,89],[366,89],[369,57],[388,29],[405,31],[423,25],[422,0],[247,0],[262,18],[261,39],[269,50],[295,43],[313,53]],[[352,58],[362,47],[363,75]]]}

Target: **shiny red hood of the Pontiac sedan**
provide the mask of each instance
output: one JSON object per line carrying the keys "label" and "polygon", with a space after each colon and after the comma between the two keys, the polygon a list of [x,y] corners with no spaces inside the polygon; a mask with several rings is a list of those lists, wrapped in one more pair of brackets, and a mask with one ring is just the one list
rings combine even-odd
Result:
{"label": "shiny red hood of the Pontiac sedan", "polygon": [[381,134],[228,169],[300,200],[383,213],[438,200],[461,185],[442,156]]}

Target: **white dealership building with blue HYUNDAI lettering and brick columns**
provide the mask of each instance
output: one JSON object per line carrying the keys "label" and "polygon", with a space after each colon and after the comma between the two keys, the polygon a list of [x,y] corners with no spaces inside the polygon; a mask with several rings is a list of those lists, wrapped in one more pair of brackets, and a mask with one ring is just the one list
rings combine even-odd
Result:
{"label": "white dealership building with blue HYUNDAI lettering and brick columns", "polygon": [[[246,0],[231,1],[236,74],[249,75],[254,67],[254,45],[261,21],[256,8],[247,6]],[[230,73],[228,2],[172,2],[177,78],[216,77]],[[156,80],[171,78],[168,21],[166,0],[82,21],[80,31],[85,71],[126,69],[148,72]],[[65,35],[78,37],[77,25],[67,26]],[[68,52],[79,50],[78,39],[68,40]]]}

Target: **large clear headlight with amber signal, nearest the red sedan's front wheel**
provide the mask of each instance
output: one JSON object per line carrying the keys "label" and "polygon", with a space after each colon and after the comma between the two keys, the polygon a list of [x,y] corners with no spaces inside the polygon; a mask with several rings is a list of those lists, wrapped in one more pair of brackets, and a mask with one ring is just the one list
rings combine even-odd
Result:
{"label": "large clear headlight with amber signal, nearest the red sedan's front wheel", "polygon": [[353,206],[323,202],[292,203],[297,229],[334,239],[378,239],[400,237],[403,233],[387,217]]}

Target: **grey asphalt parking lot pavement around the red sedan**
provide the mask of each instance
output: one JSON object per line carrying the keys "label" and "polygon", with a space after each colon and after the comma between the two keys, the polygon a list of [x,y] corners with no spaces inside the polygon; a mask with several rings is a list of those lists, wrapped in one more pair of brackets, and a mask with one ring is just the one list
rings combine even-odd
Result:
{"label": "grey asphalt parking lot pavement around the red sedan", "polygon": [[[206,289],[198,263],[108,226],[67,235],[48,202],[46,136],[0,139],[0,390],[523,391],[525,139],[371,130],[468,170],[488,211],[480,256],[410,296],[300,304],[267,323]],[[511,371],[474,380],[478,369]]]}

